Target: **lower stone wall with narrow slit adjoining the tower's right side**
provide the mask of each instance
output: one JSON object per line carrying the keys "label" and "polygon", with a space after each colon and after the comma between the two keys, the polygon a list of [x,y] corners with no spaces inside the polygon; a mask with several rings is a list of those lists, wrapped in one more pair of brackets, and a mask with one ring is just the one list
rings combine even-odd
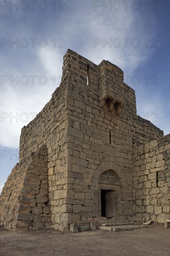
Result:
{"label": "lower stone wall with narrow slit adjoining the tower's right side", "polygon": [[133,212],[136,221],[170,217],[170,135],[134,148]]}

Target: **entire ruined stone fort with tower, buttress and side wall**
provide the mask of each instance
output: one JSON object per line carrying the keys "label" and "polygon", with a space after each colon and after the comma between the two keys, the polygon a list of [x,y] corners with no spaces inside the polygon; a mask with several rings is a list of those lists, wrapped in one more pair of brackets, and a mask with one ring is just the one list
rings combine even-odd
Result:
{"label": "entire ruined stone fort with tower, buttress and side wall", "polygon": [[170,217],[170,135],[137,115],[123,71],[68,49],[59,88],[20,135],[0,195],[6,229],[71,231]]}

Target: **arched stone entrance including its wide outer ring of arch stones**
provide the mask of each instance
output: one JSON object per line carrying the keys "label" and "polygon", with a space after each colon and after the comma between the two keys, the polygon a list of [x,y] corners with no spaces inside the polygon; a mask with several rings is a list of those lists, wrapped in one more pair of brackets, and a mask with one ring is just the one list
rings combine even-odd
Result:
{"label": "arched stone entrance including its wide outer ring of arch stones", "polygon": [[[115,179],[109,180],[111,173]],[[102,179],[102,176],[108,179]],[[93,198],[98,202],[97,216],[119,218],[122,215],[122,200],[125,198],[126,188],[126,176],[118,164],[105,161],[98,165],[92,177]]]}

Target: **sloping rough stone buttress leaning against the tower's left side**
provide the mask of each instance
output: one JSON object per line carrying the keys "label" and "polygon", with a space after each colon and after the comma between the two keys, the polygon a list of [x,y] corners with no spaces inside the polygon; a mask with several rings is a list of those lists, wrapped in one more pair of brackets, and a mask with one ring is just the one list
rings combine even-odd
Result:
{"label": "sloping rough stone buttress leaning against the tower's left side", "polygon": [[39,148],[17,164],[0,195],[0,222],[7,229],[49,228],[47,151]]}

